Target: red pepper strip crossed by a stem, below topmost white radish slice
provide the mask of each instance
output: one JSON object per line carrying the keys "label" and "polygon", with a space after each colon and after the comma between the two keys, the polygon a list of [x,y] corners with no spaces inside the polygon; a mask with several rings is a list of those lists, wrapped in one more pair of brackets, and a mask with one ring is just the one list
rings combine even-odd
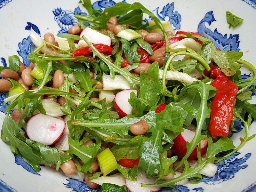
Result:
{"label": "red pepper strip crossed by a stem, below topmost white radish slice", "polygon": [[[93,45],[100,53],[106,55],[112,55],[113,48],[105,44],[94,44]],[[72,53],[72,57],[88,56],[92,54],[92,49],[89,46],[81,47]]]}

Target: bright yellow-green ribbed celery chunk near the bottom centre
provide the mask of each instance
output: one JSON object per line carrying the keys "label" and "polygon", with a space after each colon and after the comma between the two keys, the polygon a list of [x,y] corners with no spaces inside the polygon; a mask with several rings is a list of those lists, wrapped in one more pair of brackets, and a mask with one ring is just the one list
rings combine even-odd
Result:
{"label": "bright yellow-green ribbed celery chunk near the bottom centre", "polygon": [[104,176],[118,168],[116,158],[109,148],[106,148],[104,151],[100,152],[97,157],[100,170]]}

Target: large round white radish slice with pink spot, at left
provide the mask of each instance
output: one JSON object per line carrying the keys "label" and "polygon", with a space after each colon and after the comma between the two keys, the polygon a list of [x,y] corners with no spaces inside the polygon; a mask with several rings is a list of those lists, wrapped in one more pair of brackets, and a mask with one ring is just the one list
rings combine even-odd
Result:
{"label": "large round white radish slice with pink spot, at left", "polygon": [[65,126],[65,121],[38,113],[28,120],[26,133],[29,139],[52,145],[60,138]]}

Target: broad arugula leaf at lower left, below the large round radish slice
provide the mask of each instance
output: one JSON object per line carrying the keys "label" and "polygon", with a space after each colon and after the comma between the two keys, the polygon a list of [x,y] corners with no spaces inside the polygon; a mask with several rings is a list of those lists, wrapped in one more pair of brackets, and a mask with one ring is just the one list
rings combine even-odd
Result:
{"label": "broad arugula leaf at lower left, below the large round radish slice", "polygon": [[51,148],[34,140],[25,138],[20,134],[20,127],[14,122],[10,115],[6,115],[1,130],[1,139],[8,142],[12,153],[24,157],[28,163],[39,172],[40,164],[56,164],[56,169],[60,166],[60,155],[56,148]]}

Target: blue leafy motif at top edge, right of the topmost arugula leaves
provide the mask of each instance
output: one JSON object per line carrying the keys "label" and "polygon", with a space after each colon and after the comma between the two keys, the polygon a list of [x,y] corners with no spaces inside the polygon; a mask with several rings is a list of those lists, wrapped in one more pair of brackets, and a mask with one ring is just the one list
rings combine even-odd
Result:
{"label": "blue leafy motif at top edge, right of the topmost arugula leaves", "polygon": [[174,3],[166,4],[162,11],[159,12],[159,7],[153,10],[153,13],[162,21],[169,21],[174,30],[180,29],[181,15],[177,11],[174,12]]}

